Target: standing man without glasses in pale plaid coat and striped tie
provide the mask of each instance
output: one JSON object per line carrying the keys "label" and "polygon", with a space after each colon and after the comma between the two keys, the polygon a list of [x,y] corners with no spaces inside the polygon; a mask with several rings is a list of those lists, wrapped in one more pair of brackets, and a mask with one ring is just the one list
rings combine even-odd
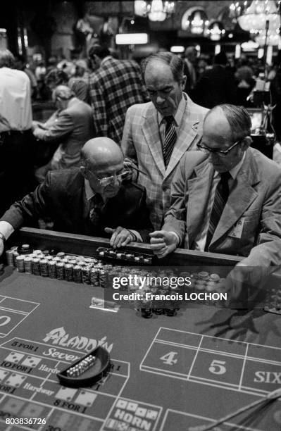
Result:
{"label": "standing man without glasses in pale plaid coat and striped tie", "polygon": [[174,54],[151,54],[142,64],[142,73],[151,102],[128,109],[121,146],[142,170],[137,182],[146,187],[151,223],[159,229],[170,207],[175,169],[185,152],[201,141],[208,110],[182,92],[183,61]]}

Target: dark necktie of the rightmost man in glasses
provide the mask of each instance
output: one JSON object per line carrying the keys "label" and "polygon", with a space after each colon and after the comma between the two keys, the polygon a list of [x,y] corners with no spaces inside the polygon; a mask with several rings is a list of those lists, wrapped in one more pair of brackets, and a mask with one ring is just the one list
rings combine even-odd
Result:
{"label": "dark necktie of the rightmost man in glasses", "polygon": [[220,174],[220,181],[216,187],[215,199],[213,200],[213,208],[211,211],[210,222],[208,225],[208,233],[206,238],[205,251],[208,251],[208,246],[211,243],[213,234],[215,233],[218,222],[220,221],[220,216],[223,213],[223,208],[230,194],[230,189],[228,186],[228,180],[230,179],[230,173],[224,172]]}

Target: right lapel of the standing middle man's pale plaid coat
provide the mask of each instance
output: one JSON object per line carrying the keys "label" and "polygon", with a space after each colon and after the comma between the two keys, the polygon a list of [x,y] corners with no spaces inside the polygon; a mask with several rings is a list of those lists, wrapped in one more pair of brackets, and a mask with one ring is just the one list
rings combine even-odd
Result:
{"label": "right lapel of the standing middle man's pale plaid coat", "polygon": [[173,149],[168,168],[166,170],[166,177],[175,169],[175,166],[182,158],[182,155],[189,149],[197,135],[197,127],[199,125],[199,120],[194,118],[192,114],[192,100],[187,99],[185,104],[185,113],[183,114],[182,124],[180,125],[180,130],[177,132],[177,142],[175,143],[175,148]]}

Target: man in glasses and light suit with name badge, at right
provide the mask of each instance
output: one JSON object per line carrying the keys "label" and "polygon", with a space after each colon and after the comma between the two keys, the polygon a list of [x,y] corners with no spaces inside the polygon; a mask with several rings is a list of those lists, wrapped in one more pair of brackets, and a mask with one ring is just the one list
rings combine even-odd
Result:
{"label": "man in glasses and light suit with name badge, at right", "polygon": [[[280,266],[281,169],[249,148],[250,130],[251,119],[242,106],[219,105],[208,112],[199,144],[203,152],[182,158],[163,228],[151,234],[158,257],[181,245],[244,256],[239,266]],[[210,237],[225,173],[227,196]]]}

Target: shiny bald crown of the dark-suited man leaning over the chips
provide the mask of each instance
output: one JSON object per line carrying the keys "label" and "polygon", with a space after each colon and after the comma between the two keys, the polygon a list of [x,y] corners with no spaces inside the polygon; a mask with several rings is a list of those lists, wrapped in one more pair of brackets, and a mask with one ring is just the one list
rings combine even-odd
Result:
{"label": "shiny bald crown of the dark-suited man leaning over the chips", "polygon": [[81,151],[82,163],[88,169],[104,169],[106,166],[123,163],[123,153],[120,146],[108,137],[90,139]]}

